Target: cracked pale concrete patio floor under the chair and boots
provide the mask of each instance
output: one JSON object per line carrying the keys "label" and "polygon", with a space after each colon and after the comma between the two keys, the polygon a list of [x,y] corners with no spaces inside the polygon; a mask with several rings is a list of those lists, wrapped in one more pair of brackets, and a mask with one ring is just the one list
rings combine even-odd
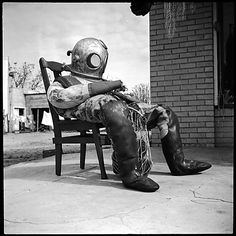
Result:
{"label": "cracked pale concrete patio floor under the chair and boots", "polygon": [[54,156],[4,168],[5,234],[179,234],[233,232],[232,149],[188,148],[189,159],[212,168],[198,175],[172,176],[160,148],[152,148],[149,174],[154,193],[123,187],[104,149],[107,180],[88,150],[85,170],[79,154],[64,154],[62,176]]}

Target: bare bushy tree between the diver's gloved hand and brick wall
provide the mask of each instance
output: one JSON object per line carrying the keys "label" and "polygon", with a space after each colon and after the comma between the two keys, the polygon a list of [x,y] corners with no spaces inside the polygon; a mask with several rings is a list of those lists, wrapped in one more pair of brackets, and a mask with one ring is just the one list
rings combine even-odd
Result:
{"label": "bare bushy tree between the diver's gloved hand and brick wall", "polygon": [[131,94],[141,102],[148,104],[151,102],[149,84],[141,83],[135,85],[131,91]]}

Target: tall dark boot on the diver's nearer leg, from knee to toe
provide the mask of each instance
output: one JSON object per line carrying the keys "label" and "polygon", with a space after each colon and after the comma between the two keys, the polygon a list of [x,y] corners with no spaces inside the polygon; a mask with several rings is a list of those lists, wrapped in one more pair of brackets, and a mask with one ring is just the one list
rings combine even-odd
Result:
{"label": "tall dark boot on the diver's nearer leg, from knee to toe", "polygon": [[135,169],[138,161],[138,146],[129,110],[122,101],[110,101],[101,107],[102,120],[112,140],[116,154],[119,176],[126,188],[154,192],[159,185],[152,179],[141,176]]}

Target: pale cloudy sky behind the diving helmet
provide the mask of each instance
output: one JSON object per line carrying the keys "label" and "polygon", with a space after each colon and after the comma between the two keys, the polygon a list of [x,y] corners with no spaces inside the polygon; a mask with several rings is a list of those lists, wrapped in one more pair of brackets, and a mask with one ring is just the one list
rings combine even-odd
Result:
{"label": "pale cloudy sky behind the diving helmet", "polygon": [[130,3],[3,3],[3,56],[11,64],[71,63],[66,55],[82,38],[108,47],[105,78],[132,89],[149,83],[149,14],[136,16]]}

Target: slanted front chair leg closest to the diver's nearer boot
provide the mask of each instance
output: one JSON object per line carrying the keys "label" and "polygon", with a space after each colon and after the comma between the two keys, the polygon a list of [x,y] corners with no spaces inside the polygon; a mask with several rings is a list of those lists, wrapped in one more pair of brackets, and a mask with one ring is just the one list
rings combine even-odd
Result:
{"label": "slanted front chair leg closest to the diver's nearer boot", "polygon": [[101,139],[100,139],[100,133],[99,128],[93,129],[93,138],[96,146],[96,151],[98,155],[98,162],[101,170],[101,178],[102,179],[108,179],[105,166],[104,166],[104,159],[103,159],[103,152],[102,152],[102,145],[101,145]]}

